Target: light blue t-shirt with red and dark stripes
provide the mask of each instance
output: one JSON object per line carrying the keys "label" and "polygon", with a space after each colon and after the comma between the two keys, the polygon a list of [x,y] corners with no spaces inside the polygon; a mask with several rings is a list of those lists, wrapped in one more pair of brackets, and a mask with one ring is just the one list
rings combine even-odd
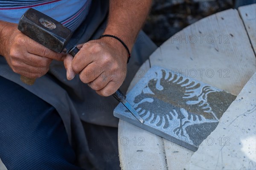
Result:
{"label": "light blue t-shirt with red and dark stripes", "polygon": [[34,8],[75,31],[90,4],[91,0],[0,0],[0,20],[18,23],[28,8]]}

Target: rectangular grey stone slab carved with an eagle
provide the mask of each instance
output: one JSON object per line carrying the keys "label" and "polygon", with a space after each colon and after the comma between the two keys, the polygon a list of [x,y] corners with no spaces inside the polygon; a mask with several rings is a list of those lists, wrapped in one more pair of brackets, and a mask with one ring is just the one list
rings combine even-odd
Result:
{"label": "rectangular grey stone slab carved with an eagle", "polygon": [[154,66],[127,95],[144,124],[122,104],[114,116],[196,151],[235,99],[221,89]]}

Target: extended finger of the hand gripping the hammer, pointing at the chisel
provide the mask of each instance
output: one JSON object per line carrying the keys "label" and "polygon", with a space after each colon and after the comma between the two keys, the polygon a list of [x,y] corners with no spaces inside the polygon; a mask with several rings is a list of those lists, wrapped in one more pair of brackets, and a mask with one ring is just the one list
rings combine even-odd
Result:
{"label": "extended finger of the hand gripping the hammer, pointing at the chisel", "polygon": [[52,51],[49,48],[46,48],[43,45],[39,44],[38,42],[33,43],[33,45],[30,46],[27,51],[31,54],[36,54],[41,57],[47,57],[49,59],[55,59],[57,61],[63,61],[64,57],[66,56],[65,53],[57,53],[55,51]]}

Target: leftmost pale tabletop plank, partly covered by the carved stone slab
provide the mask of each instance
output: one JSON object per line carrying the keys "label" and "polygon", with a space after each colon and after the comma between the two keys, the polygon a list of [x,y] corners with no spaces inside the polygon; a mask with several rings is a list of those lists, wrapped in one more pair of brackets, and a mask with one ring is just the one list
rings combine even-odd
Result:
{"label": "leftmost pale tabletop plank, partly covered by the carved stone slab", "polygon": [[[128,91],[149,68],[147,60],[137,71]],[[122,120],[119,120],[118,127],[118,150],[122,170],[167,169],[161,137]]]}

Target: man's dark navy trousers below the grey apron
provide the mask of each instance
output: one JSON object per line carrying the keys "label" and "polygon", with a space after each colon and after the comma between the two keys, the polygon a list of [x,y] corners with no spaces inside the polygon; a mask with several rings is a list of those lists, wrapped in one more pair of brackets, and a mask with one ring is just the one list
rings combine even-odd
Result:
{"label": "man's dark navy trousers below the grey apron", "polygon": [[[86,123],[84,127],[90,138],[89,148],[102,164],[99,167],[119,169],[116,142],[97,143],[102,138],[117,139],[117,129]],[[104,157],[108,160],[104,161]],[[8,170],[81,169],[76,166],[76,154],[55,108],[3,77],[0,77],[0,158]],[[88,167],[94,169],[93,165]]]}

